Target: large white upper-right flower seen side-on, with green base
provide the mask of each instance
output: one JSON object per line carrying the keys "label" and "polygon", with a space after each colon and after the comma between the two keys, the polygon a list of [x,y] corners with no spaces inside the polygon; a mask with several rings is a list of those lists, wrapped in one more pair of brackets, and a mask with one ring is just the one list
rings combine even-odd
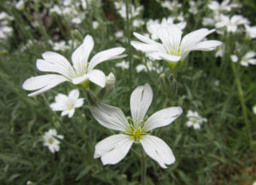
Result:
{"label": "large white upper-right flower seen side-on, with green base", "polygon": [[131,41],[131,45],[145,52],[146,55],[154,60],[165,60],[171,66],[173,64],[175,65],[177,61],[183,61],[189,55],[190,51],[210,51],[220,45],[222,42],[217,40],[201,41],[214,31],[214,29],[208,30],[207,28],[201,28],[190,32],[181,39],[182,31],[177,26],[169,24],[168,26],[160,26],[157,30],[157,37],[160,38],[161,43],[157,43],[150,38],[134,32],[134,36],[142,42]]}

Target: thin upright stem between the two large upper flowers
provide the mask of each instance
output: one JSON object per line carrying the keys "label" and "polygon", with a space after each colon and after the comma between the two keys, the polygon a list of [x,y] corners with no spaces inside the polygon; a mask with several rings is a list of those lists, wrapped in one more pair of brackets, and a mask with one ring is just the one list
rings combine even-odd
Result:
{"label": "thin upright stem between the two large upper flowers", "polygon": [[131,90],[131,68],[132,68],[132,61],[131,61],[131,32],[130,32],[130,18],[129,18],[129,0],[125,0],[125,8],[126,8],[126,36],[127,36],[127,45],[128,45],[128,57],[129,57],[129,72],[130,72],[130,90]]}

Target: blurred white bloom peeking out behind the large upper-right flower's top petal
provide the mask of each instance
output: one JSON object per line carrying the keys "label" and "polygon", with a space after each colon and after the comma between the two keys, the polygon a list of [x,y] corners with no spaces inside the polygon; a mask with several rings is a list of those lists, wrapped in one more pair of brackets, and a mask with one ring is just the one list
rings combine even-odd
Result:
{"label": "blurred white bloom peeking out behind the large upper-right flower's top petal", "polygon": [[[160,28],[160,26],[168,27],[168,25],[174,24],[173,21],[174,19],[172,17],[168,17],[167,19],[163,18],[161,22],[159,20],[148,20],[147,29],[148,32],[151,34],[151,38],[153,38],[154,40],[157,39],[157,30]],[[174,25],[177,26],[180,30],[183,30],[186,24],[187,23],[185,21],[182,21]]]}

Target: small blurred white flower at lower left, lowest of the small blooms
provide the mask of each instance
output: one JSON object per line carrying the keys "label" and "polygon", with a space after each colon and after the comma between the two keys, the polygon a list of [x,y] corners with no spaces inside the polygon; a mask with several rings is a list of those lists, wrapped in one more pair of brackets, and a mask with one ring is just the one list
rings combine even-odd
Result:
{"label": "small blurred white flower at lower left, lowest of the small blooms", "polygon": [[58,152],[60,150],[61,142],[58,139],[63,139],[64,136],[57,135],[55,129],[50,129],[44,133],[44,146],[49,148],[51,153]]}

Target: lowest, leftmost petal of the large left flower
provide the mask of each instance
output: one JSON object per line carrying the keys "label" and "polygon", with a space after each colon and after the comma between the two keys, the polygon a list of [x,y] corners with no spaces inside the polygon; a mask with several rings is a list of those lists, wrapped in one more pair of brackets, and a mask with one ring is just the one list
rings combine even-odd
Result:
{"label": "lowest, leftmost petal of the large left flower", "polygon": [[22,88],[24,90],[40,89],[28,95],[28,96],[34,96],[34,95],[39,95],[65,81],[67,81],[67,78],[61,75],[46,74],[46,75],[40,75],[37,77],[31,77],[26,79],[26,81],[22,84]]}

